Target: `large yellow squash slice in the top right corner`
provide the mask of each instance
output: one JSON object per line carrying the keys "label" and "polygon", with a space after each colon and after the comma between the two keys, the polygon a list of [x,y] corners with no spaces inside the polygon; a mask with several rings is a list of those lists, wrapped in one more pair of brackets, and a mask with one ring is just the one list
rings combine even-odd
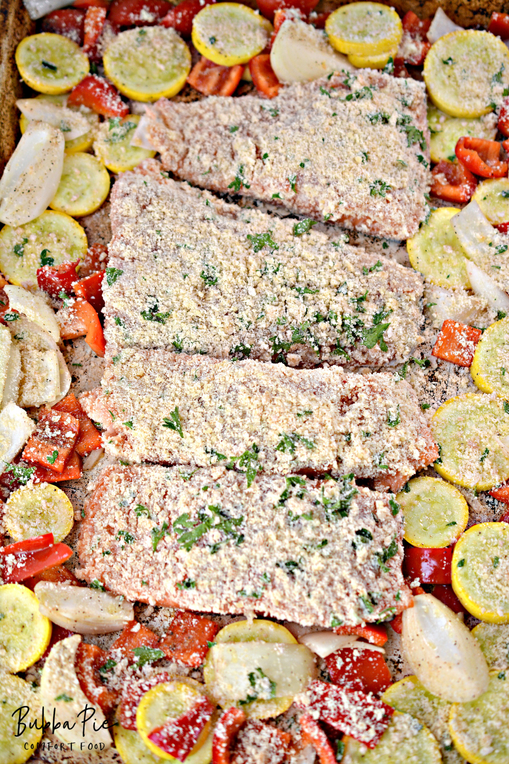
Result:
{"label": "large yellow squash slice in the top right corner", "polygon": [[509,50],[489,32],[450,32],[430,47],[424,81],[430,99],[446,114],[480,117],[501,104],[509,86]]}

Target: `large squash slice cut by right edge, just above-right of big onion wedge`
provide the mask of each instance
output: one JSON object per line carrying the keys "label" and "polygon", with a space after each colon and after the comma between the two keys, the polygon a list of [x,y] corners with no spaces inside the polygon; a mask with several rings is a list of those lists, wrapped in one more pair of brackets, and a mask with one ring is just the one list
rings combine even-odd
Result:
{"label": "large squash slice cut by right edge, just above-right of big onion wedge", "polygon": [[509,524],[478,523],[454,547],[452,583],[469,613],[509,623]]}

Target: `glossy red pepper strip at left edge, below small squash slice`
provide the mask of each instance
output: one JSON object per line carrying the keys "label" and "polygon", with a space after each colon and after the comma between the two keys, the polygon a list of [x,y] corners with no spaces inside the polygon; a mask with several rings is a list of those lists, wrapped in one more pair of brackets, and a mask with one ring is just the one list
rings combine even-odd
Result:
{"label": "glossy red pepper strip at left edge, below small squash slice", "polygon": [[9,544],[0,547],[0,577],[5,584],[15,584],[66,562],[71,555],[66,544],[53,544],[53,533]]}

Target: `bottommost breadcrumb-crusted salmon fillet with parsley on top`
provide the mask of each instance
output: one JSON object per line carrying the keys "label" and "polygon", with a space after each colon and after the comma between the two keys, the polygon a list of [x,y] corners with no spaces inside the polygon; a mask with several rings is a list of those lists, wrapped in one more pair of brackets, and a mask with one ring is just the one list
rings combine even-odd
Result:
{"label": "bottommost breadcrumb-crusted salmon fillet with parsley on top", "polygon": [[304,625],[390,618],[411,598],[402,513],[352,476],[113,465],[85,506],[79,575],[129,600]]}

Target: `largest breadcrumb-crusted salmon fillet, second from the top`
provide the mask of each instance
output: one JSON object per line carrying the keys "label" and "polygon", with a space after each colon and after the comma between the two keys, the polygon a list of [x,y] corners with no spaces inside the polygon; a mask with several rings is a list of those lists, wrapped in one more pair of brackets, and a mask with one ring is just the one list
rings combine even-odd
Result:
{"label": "largest breadcrumb-crusted salmon fillet, second from the top", "polygon": [[111,193],[108,351],[294,367],[408,359],[422,339],[420,274],[309,223],[166,179],[156,160],[124,173]]}

